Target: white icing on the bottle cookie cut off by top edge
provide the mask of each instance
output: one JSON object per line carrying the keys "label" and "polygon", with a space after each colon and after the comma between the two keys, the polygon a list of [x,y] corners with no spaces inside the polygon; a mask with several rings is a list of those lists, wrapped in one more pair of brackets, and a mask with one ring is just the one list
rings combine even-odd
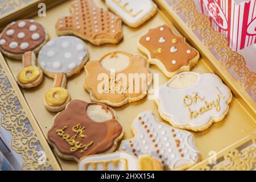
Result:
{"label": "white icing on the bottle cookie cut off by top edge", "polygon": [[[125,9],[128,11],[132,9],[131,13],[135,16],[127,13],[121,6],[118,6],[117,1],[114,0],[106,0],[106,5],[115,10],[118,16],[120,16],[126,22],[130,24],[140,23],[142,19],[151,14],[151,12],[155,9],[155,5],[151,0],[121,0],[119,3],[125,6]],[[138,13],[138,14],[137,14]],[[150,17],[149,17],[150,18]]]}

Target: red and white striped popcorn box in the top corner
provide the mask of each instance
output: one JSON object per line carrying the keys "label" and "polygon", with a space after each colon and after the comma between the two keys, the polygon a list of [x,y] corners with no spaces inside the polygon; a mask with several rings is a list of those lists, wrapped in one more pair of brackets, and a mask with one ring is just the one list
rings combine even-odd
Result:
{"label": "red and white striped popcorn box in the top corner", "polygon": [[256,0],[194,1],[197,10],[210,17],[214,30],[226,36],[233,51],[256,44]]}

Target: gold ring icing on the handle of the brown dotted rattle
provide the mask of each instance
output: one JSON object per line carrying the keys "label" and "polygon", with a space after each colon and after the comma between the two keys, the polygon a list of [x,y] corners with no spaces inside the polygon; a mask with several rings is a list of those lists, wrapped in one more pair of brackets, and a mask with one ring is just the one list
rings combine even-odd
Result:
{"label": "gold ring icing on the handle of the brown dotted rattle", "polygon": [[19,72],[18,79],[22,84],[29,84],[34,82],[39,76],[39,69],[33,66],[29,66],[23,68],[22,71]]}

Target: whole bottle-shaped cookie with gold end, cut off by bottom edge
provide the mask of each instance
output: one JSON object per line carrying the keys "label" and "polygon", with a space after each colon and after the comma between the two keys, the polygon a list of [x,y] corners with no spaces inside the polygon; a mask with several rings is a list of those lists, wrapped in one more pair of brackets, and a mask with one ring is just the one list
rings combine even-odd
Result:
{"label": "whole bottle-shaped cookie with gold end, cut off by bottom edge", "polygon": [[80,171],[160,171],[162,163],[151,155],[137,156],[129,152],[92,155],[81,158]]}

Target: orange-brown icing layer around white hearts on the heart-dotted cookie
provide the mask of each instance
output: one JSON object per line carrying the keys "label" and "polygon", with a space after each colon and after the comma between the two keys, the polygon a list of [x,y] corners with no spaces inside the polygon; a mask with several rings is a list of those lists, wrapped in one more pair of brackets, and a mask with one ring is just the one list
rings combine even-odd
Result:
{"label": "orange-brown icing layer around white hearts on the heart-dotted cookie", "polygon": [[[164,38],[166,41],[160,43],[160,38]],[[167,25],[150,29],[139,39],[139,43],[150,52],[153,59],[160,60],[168,72],[175,72],[180,67],[188,65],[189,61],[197,56],[197,51],[185,43],[182,36],[176,36]],[[173,46],[177,49],[176,52],[170,51]],[[187,53],[187,50],[191,52]],[[173,60],[176,61],[175,64],[172,63]]]}

